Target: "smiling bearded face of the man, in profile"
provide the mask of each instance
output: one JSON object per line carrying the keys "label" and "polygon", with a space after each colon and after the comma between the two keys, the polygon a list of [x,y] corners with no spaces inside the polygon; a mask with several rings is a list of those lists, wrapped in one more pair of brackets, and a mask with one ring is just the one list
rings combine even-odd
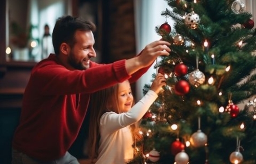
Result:
{"label": "smiling bearded face of the man, in profile", "polygon": [[90,68],[90,58],[96,57],[93,45],[95,43],[91,31],[76,31],[76,43],[68,54],[68,63],[75,69]]}

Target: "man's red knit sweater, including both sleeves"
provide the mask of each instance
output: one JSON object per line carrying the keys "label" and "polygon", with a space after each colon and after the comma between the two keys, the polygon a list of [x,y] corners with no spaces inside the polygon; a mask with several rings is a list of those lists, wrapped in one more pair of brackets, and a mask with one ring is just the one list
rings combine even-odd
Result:
{"label": "man's red knit sweater, including both sleeves", "polygon": [[90,64],[86,71],[70,71],[51,54],[32,69],[13,148],[38,160],[60,158],[78,135],[90,93],[129,78],[135,82],[149,68],[129,76],[125,60]]}

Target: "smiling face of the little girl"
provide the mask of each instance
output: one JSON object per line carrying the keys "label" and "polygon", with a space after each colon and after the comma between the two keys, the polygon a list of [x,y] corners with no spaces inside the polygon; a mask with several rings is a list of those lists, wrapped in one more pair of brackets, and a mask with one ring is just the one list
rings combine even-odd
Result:
{"label": "smiling face of the little girl", "polygon": [[124,81],[119,84],[117,100],[120,112],[127,112],[131,109],[134,97],[131,93],[131,86],[129,81]]}

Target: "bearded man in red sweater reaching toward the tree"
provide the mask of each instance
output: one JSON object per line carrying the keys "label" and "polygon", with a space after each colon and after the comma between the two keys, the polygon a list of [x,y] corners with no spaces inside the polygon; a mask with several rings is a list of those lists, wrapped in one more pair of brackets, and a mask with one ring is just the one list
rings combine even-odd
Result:
{"label": "bearded man in red sweater reaching toward the tree", "polygon": [[96,57],[95,24],[65,16],[52,33],[55,54],[39,62],[24,92],[21,118],[13,137],[12,163],[78,163],[67,152],[85,118],[90,93],[129,79],[135,82],[170,43],[155,41],[131,59],[111,64]]}

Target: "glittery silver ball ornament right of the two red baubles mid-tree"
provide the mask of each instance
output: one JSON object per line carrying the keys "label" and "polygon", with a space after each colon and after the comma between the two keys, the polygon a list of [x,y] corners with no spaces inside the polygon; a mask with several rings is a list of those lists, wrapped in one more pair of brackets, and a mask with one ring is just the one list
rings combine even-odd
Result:
{"label": "glittery silver ball ornament right of the two red baubles mid-tree", "polygon": [[195,71],[189,73],[189,83],[191,85],[199,87],[200,85],[203,85],[204,82],[204,73],[199,71],[199,69],[196,69]]}

